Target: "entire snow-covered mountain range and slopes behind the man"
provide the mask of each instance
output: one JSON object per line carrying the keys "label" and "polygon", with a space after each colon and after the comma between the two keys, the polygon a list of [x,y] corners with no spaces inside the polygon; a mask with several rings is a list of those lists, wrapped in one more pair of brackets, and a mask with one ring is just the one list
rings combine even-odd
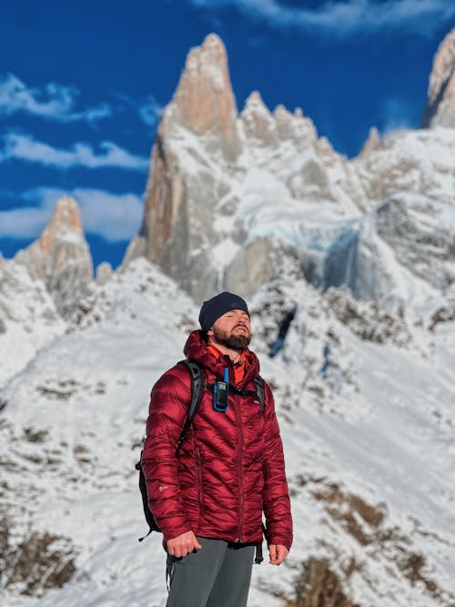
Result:
{"label": "entire snow-covered mountain range and slopes behind the man", "polygon": [[[430,91],[450,90],[448,40]],[[451,97],[436,98],[449,116]],[[27,252],[0,258],[1,604],[165,604],[161,539],[137,542],[148,394],[203,298],[230,288],[248,297],[276,396],[296,531],[284,565],[255,566],[248,604],[455,605],[455,129],[442,122],[372,129],[349,160],[300,110],[270,113],[254,93],[238,114],[210,35],[159,126],[123,268],[92,280],[67,198]]]}

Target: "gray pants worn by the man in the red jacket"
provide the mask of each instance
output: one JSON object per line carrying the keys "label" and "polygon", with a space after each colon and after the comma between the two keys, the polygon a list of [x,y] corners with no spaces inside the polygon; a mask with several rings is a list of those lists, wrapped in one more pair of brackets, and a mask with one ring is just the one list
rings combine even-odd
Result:
{"label": "gray pants worn by the man in the red jacket", "polygon": [[202,549],[167,556],[166,607],[246,607],[255,546],[197,537]]}

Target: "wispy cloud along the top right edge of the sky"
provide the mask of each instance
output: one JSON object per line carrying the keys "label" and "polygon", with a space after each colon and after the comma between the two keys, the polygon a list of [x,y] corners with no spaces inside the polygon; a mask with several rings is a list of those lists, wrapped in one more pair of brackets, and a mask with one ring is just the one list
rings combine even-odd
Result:
{"label": "wispy cloud along the top right edge of the sky", "polygon": [[[187,0],[198,7],[215,10],[235,6],[251,18],[275,27],[294,26],[327,30],[331,35],[368,33],[403,27],[430,34],[449,23],[455,4],[447,0],[330,0],[315,7],[283,5],[278,0]],[[297,4],[297,3],[296,3]]]}

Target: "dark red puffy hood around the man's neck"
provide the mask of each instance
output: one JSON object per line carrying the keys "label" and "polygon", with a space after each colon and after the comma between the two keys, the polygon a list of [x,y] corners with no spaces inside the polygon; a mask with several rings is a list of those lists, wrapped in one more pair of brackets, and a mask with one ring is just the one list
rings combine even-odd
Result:
{"label": "dark red puffy hood around the man's neck", "polygon": [[[201,367],[209,369],[215,376],[222,378],[228,357],[217,359],[217,357],[207,349],[207,344],[202,336],[203,332],[200,330],[191,331],[185,348],[183,349],[183,353],[187,359],[195,360]],[[259,361],[256,354],[248,348],[243,350],[243,354],[247,359],[248,367],[244,378],[238,384],[239,386],[247,386],[248,383],[257,378],[259,374]],[[230,360],[228,364],[229,366],[232,366]]]}

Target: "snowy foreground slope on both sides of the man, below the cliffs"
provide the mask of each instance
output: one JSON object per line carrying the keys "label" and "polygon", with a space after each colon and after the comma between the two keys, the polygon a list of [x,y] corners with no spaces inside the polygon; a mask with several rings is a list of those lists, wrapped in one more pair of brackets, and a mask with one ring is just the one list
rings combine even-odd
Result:
{"label": "snowy foreground slope on both sides of the man, below the cliffs", "polygon": [[[327,559],[362,607],[455,601],[455,323],[428,329],[441,305],[393,317],[342,289],[321,295],[291,271],[258,293],[252,347],[275,390],[296,539],[286,565],[255,566],[251,607],[283,605],[311,558]],[[295,307],[284,349],[268,358]],[[197,306],[137,259],[84,309],[0,394],[11,555],[0,598],[161,607],[164,553],[159,536],[137,542],[146,525],[134,464],[149,390],[182,358]],[[62,589],[43,589],[45,576],[31,583],[33,572],[5,586],[33,531],[59,538],[48,551],[60,568],[72,561]],[[31,597],[19,594],[27,583]]]}

